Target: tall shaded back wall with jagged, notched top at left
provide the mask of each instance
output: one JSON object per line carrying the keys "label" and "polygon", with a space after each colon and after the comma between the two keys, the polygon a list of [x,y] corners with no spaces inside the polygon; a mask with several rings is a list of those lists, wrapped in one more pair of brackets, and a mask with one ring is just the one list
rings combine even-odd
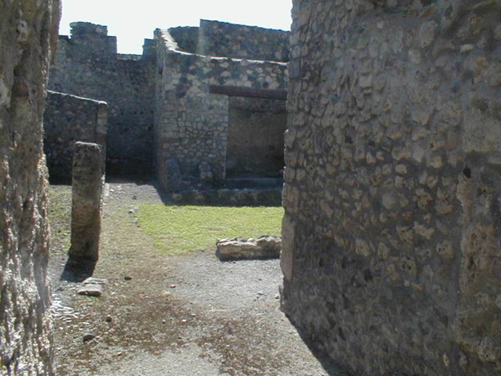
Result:
{"label": "tall shaded back wall with jagged, notched top at left", "polygon": [[50,89],[106,101],[108,162],[150,170],[156,77],[153,43],[145,40],[143,55],[117,55],[116,37],[108,37],[106,26],[77,22],[71,27],[71,38],[59,38]]}

